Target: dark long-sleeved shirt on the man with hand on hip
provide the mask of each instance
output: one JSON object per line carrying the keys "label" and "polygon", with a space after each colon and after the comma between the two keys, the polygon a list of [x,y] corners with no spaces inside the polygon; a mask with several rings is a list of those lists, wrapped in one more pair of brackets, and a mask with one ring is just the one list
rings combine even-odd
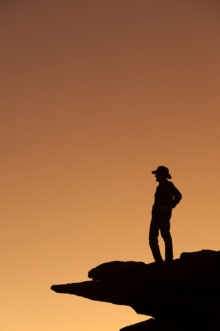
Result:
{"label": "dark long-sleeved shirt on the man with hand on hip", "polygon": [[[169,216],[171,217],[172,208],[175,208],[176,205],[182,199],[182,194],[179,190],[173,185],[172,182],[165,179],[162,183],[156,188],[154,194],[154,204],[152,207],[152,217],[153,216]],[[160,207],[169,207],[168,211],[161,212]]]}

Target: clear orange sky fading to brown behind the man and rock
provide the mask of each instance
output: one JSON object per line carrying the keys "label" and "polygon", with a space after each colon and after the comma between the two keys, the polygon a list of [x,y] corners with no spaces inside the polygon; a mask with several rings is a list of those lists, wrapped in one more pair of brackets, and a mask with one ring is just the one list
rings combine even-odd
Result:
{"label": "clear orange sky fading to brown behind the man and rock", "polygon": [[2,1],[3,330],[146,319],[50,286],[153,261],[159,165],[183,195],[174,258],[220,249],[219,15],[218,0]]}

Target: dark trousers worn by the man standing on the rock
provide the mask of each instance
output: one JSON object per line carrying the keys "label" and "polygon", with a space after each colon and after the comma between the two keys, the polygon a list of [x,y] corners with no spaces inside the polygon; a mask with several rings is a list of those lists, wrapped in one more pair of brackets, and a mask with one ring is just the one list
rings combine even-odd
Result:
{"label": "dark trousers worn by the man standing on the rock", "polygon": [[170,230],[170,217],[167,216],[153,216],[150,224],[149,231],[149,245],[156,262],[162,261],[160,248],[158,245],[159,230],[161,231],[161,237],[165,243],[165,259],[173,259],[173,245],[172,238],[169,232]]}

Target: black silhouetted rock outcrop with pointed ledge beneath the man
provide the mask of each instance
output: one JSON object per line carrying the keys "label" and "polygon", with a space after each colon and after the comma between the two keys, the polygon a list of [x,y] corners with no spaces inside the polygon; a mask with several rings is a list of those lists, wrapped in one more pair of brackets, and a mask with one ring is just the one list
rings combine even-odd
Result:
{"label": "black silhouetted rock outcrop with pointed ledge beneath the man", "polygon": [[152,316],[123,331],[216,331],[219,328],[220,251],[182,253],[171,263],[103,263],[90,280],[53,285],[57,293],[132,307]]}

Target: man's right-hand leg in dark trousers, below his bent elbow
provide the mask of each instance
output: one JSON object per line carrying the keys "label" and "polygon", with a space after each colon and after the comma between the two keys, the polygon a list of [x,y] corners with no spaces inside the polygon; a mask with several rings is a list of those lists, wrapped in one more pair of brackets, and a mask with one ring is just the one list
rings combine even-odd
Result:
{"label": "man's right-hand leg in dark trousers, below his bent elbow", "polygon": [[172,244],[172,237],[169,232],[170,230],[169,220],[170,220],[169,217],[159,218],[161,237],[164,239],[164,243],[165,243],[165,260],[173,259],[173,244]]}

